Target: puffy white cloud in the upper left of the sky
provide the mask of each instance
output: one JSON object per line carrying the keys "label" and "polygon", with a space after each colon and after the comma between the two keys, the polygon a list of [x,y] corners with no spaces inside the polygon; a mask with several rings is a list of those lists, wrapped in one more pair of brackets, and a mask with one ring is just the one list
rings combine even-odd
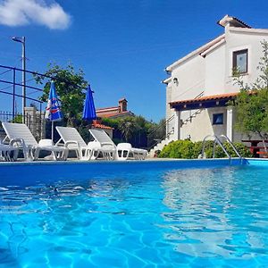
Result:
{"label": "puffy white cloud in the upper left of the sky", "polygon": [[46,25],[49,29],[66,29],[71,16],[60,4],[45,0],[0,0],[0,24],[21,26],[29,23]]}

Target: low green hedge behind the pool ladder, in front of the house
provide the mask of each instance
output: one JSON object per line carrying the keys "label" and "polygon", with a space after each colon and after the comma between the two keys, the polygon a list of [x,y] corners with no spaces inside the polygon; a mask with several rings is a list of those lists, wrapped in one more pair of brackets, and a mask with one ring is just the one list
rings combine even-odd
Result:
{"label": "low green hedge behind the pool ladder, in front of the house", "polygon": [[[223,143],[227,152],[231,157],[237,157],[234,150],[230,147],[230,144],[225,142]],[[234,147],[238,150],[239,154],[242,157],[252,157],[252,154],[247,149],[247,147],[239,142],[235,142]],[[205,156],[206,158],[213,158],[213,148],[214,141],[207,140],[205,141]],[[163,147],[163,150],[158,155],[161,158],[183,158],[183,159],[197,159],[198,155],[202,153],[202,141],[192,142],[190,140],[177,140],[172,141],[167,146]],[[227,157],[222,150],[222,147],[216,146],[215,148],[215,158],[224,158]]]}

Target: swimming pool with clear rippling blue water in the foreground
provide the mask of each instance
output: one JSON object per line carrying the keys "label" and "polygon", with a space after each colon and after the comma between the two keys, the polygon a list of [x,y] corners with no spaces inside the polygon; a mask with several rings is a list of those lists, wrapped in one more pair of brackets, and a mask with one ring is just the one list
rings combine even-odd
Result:
{"label": "swimming pool with clear rippling blue water in the foreground", "polygon": [[1,267],[265,267],[268,162],[0,165]]}

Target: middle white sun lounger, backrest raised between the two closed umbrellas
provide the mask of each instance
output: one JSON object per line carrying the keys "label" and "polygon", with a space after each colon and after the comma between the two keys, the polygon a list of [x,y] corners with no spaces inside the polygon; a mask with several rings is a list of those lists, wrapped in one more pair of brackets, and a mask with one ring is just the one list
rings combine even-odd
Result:
{"label": "middle white sun lounger, backrest raised between the two closed umbrellas", "polygon": [[56,145],[63,143],[64,147],[69,150],[75,151],[77,157],[80,160],[96,159],[100,152],[102,152],[100,144],[96,141],[91,141],[88,144],[80,136],[80,133],[75,128],[69,127],[56,127],[60,135],[60,139],[56,142]]}

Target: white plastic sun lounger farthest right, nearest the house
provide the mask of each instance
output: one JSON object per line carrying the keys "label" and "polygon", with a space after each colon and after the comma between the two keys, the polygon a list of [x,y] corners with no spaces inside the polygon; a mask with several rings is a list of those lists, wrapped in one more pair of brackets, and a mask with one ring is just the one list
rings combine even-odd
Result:
{"label": "white plastic sun lounger farthest right, nearest the house", "polygon": [[102,147],[113,148],[113,151],[115,150],[116,153],[113,158],[117,160],[144,160],[147,157],[147,150],[133,148],[130,143],[120,143],[116,147],[113,140],[104,130],[89,130],[89,132]]}

